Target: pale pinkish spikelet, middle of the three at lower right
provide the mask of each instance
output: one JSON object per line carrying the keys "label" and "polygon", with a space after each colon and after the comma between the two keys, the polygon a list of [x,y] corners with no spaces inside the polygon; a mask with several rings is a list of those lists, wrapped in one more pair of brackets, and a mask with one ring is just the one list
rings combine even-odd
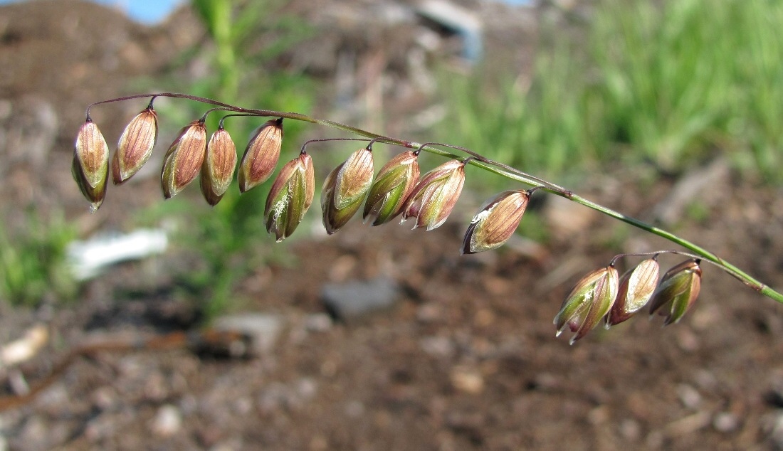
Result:
{"label": "pale pinkish spikelet, middle of the three at lower right", "polygon": [[648,258],[620,277],[615,305],[606,316],[607,328],[626,321],[647,305],[658,285],[659,268],[655,258]]}

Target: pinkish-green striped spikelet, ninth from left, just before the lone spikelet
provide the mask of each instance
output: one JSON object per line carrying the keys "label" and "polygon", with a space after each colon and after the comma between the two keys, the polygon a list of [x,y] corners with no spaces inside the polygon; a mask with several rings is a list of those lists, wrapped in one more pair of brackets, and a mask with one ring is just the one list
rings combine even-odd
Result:
{"label": "pinkish-green striped spikelet, ninth from left, just before the lone spikelet", "polygon": [[413,188],[402,211],[402,222],[416,218],[413,229],[427,226],[435,229],[446,222],[446,218],[460,197],[465,183],[465,164],[449,160],[424,174]]}

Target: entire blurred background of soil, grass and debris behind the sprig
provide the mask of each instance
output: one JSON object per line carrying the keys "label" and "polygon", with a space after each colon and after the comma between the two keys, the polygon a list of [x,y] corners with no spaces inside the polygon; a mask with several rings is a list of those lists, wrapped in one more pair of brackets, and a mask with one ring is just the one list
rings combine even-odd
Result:
{"label": "entire blurred background of soil, grass and debris behind the sprig", "polygon": [[[207,110],[183,99],[98,212],[70,176],[88,104],[187,92],[466,146],[783,287],[781,29],[773,0],[0,2],[0,449],[783,449],[783,309],[709,266],[677,326],[554,338],[580,276],[672,247],[579,205],[536,195],[460,257],[517,187],[468,167],[435,231],[327,237],[316,193],[276,244],[269,184],[163,201],[164,150]],[[91,110],[112,149],[146,103]],[[240,153],[263,121],[226,120]],[[281,161],[345,136],[284,129]],[[316,186],[360,145],[311,144]],[[200,330],[244,341],[127,345]],[[85,343],[125,345],[68,359]]]}

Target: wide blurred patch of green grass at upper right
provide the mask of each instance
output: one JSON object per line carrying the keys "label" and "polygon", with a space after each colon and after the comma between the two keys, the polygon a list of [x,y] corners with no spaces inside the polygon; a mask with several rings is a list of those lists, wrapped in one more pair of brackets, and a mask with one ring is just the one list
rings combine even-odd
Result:
{"label": "wide blurred patch of green grass at upper right", "polygon": [[543,23],[530,75],[449,74],[438,139],[545,177],[720,153],[783,182],[783,2],[600,0],[569,27]]}

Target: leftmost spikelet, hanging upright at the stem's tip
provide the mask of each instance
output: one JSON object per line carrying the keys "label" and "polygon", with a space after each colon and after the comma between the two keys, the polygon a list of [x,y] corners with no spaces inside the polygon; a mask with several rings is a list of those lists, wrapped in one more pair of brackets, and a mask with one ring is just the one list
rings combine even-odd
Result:
{"label": "leftmost spikelet, hanging upright at the stem's tip", "polygon": [[92,203],[91,211],[103,204],[108,173],[109,146],[98,126],[88,118],[76,135],[71,174],[81,193]]}

